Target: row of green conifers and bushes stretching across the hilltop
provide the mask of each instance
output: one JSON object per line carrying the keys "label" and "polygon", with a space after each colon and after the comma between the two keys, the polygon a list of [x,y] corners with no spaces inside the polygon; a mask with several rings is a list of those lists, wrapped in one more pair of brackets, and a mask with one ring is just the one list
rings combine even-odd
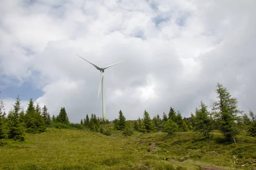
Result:
{"label": "row of green conifers and bushes stretching across the hilltop", "polygon": [[[217,83],[215,90],[218,101],[208,106],[201,101],[200,107],[195,108],[195,112],[190,114],[189,118],[182,117],[180,111],[175,111],[170,107],[168,115],[163,113],[162,118],[159,114],[150,118],[145,110],[143,118],[138,118],[133,125],[128,123],[122,111],[119,111],[119,118],[111,121],[113,130],[122,130],[124,135],[132,135],[133,130],[143,133],[166,132],[172,135],[176,132],[195,131],[201,133],[205,138],[212,137],[212,130],[219,130],[227,141],[233,140],[241,130],[246,130],[249,136],[256,137],[256,115],[249,110],[250,118],[244,111],[238,108],[238,100],[231,96],[227,88]],[[105,121],[94,114],[90,117],[86,114],[81,119],[80,124],[70,123],[67,112],[64,107],[55,117],[49,115],[47,107],[40,108],[37,102],[34,105],[30,99],[26,111],[20,106],[20,98],[17,96],[13,108],[6,116],[4,103],[0,100],[0,139],[25,140],[26,133],[40,133],[47,127],[55,128],[75,128],[81,130],[90,130],[100,132],[105,135],[111,135],[111,129],[106,125],[111,123],[108,119]]]}

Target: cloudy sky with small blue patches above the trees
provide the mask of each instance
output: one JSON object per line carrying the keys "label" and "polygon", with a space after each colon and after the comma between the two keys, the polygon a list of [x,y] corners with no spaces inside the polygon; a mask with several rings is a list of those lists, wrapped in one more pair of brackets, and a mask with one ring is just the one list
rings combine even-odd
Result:
{"label": "cloudy sky with small blue patches above the trees", "polygon": [[70,122],[168,113],[189,117],[221,83],[256,112],[255,0],[0,0],[0,99],[65,107]]}

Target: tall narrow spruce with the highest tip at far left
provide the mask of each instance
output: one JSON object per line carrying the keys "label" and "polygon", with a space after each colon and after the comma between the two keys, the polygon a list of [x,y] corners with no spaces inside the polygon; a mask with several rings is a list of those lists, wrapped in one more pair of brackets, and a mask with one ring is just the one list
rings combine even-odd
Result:
{"label": "tall narrow spruce with the highest tip at far left", "polygon": [[8,114],[8,137],[9,139],[25,141],[24,127],[20,124],[19,120],[20,110],[20,98],[17,96],[13,110]]}

